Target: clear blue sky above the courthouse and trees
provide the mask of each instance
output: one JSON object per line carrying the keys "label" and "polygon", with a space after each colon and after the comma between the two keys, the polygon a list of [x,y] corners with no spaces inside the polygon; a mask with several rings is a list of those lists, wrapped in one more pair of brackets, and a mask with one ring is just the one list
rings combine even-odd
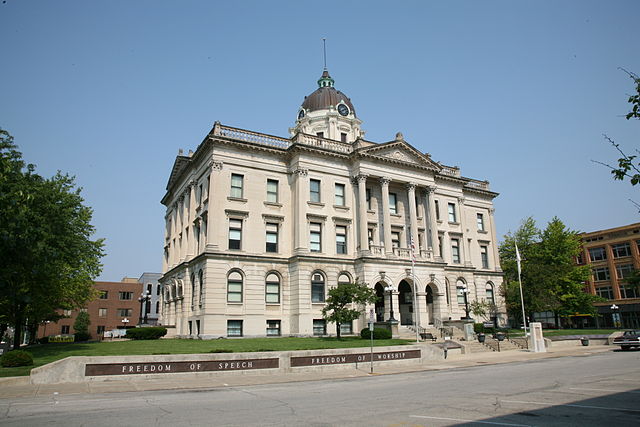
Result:
{"label": "clear blue sky above the courthouse and trees", "polygon": [[288,136],[327,67],[365,138],[488,180],[499,240],[524,218],[640,221],[628,152],[640,2],[2,0],[0,127],[44,176],[76,177],[106,239],[99,280],[162,268],[178,149],[218,120]]}

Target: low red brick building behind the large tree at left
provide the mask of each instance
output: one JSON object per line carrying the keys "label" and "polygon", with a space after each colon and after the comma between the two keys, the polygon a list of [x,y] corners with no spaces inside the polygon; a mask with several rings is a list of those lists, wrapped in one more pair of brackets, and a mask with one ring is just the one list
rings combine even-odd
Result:
{"label": "low red brick building behind the large tree at left", "polygon": [[[121,282],[95,282],[94,286],[100,295],[82,309],[89,313],[91,339],[102,338],[105,331],[131,328],[139,323],[138,297],[143,290],[142,283],[125,277]],[[73,334],[73,323],[79,312],[80,310],[65,310],[63,314],[68,317],[57,322],[43,323],[38,329],[38,337]]]}

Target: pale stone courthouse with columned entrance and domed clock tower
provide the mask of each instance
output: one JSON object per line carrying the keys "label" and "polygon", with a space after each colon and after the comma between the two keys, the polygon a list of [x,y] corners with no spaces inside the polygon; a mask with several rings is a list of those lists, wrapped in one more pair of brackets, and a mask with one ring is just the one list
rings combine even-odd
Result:
{"label": "pale stone courthouse with columned entrance and domed clock tower", "polygon": [[318,85],[290,138],[216,122],[176,157],[162,199],[161,323],[203,339],[335,334],[322,319],[327,292],[356,279],[380,298],[345,334],[370,310],[429,328],[475,300],[496,303],[504,323],[497,193],[400,133],[367,141],[326,70]]}

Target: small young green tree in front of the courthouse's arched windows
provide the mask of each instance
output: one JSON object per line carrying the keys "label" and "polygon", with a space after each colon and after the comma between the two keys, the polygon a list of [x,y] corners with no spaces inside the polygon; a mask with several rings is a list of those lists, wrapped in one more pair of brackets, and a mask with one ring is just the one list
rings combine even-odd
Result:
{"label": "small young green tree in front of the courthouse's arched windows", "polygon": [[340,325],[353,322],[362,314],[362,310],[354,308],[354,305],[374,303],[377,299],[376,292],[358,279],[355,283],[338,283],[329,289],[322,317],[328,322],[335,322],[336,334],[340,338]]}

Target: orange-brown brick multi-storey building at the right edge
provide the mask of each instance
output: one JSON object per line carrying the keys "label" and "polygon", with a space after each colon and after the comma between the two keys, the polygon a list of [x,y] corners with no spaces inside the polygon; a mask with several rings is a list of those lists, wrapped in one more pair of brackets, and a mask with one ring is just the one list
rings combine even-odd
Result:
{"label": "orange-brown brick multi-storey building at the right edge", "polygon": [[587,290],[605,298],[596,303],[592,326],[640,328],[640,292],[625,279],[640,268],[640,223],[580,235],[579,264],[591,267]]}

